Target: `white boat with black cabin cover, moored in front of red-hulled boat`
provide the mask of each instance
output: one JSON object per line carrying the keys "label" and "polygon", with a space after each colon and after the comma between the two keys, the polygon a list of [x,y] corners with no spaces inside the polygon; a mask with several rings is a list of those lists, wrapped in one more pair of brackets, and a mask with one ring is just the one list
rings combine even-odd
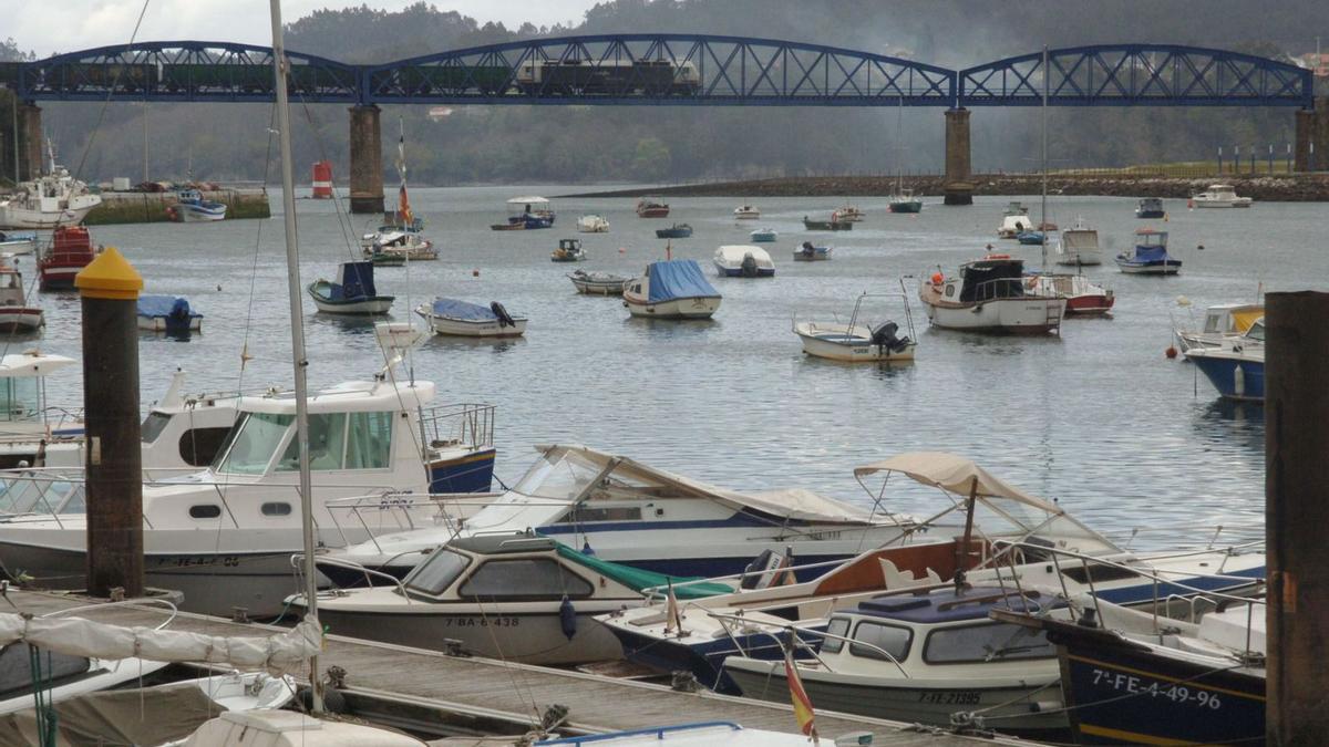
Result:
{"label": "white boat with black cabin cover, moored in front of red-hulled boat", "polygon": [[960,266],[958,278],[938,271],[918,286],[933,326],[971,332],[1058,331],[1066,299],[1025,287],[1025,261],[989,254]]}

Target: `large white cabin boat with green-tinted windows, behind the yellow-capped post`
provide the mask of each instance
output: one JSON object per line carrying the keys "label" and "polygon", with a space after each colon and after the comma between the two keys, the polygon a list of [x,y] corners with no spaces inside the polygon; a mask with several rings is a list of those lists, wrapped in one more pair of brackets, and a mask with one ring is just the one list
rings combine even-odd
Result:
{"label": "large white cabin boat with green-tinted windows, behind the yellow-capped post", "polygon": [[[439,504],[335,517],[330,501],[397,490],[489,489],[493,408],[445,411],[431,407],[433,397],[432,383],[397,380],[391,368],[371,381],[347,381],[310,397],[312,512],[322,546],[399,532],[403,522],[441,521]],[[303,538],[295,404],[290,393],[276,391],[239,397],[238,420],[207,469],[144,486],[149,585],[183,591],[190,610],[282,611],[282,599],[298,590],[291,556]],[[82,490],[48,496],[28,510],[0,520],[0,556],[45,584],[78,587],[86,570]]]}

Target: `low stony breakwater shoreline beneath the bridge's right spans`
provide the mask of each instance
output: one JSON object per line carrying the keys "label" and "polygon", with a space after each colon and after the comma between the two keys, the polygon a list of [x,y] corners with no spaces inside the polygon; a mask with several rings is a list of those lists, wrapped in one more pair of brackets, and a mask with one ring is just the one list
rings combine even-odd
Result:
{"label": "low stony breakwater shoreline beneath the bridge's right spans", "polygon": [[[918,195],[942,195],[942,177],[905,177],[904,186]],[[970,181],[974,195],[1038,194],[1038,175],[978,174]],[[1188,198],[1211,183],[1228,183],[1237,194],[1260,202],[1326,202],[1329,174],[1247,174],[1221,177],[1050,175],[1049,194],[1098,197]],[[583,191],[560,197],[885,197],[894,194],[894,177],[779,177],[659,187]]]}

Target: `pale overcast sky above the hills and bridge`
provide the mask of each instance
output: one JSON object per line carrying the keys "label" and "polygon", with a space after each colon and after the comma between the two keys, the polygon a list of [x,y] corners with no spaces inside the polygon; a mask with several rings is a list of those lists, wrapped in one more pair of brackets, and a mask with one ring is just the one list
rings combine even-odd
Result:
{"label": "pale overcast sky above the hills and bridge", "polygon": [[[319,8],[367,4],[397,11],[415,0],[283,0],[282,17],[291,23]],[[478,21],[502,21],[509,28],[581,21],[595,0],[435,0],[440,11],[457,11]],[[0,39],[13,37],[23,51],[39,56],[108,44],[125,44],[144,0],[0,0]],[[138,31],[140,41],[186,40],[271,44],[268,0],[150,0]]]}

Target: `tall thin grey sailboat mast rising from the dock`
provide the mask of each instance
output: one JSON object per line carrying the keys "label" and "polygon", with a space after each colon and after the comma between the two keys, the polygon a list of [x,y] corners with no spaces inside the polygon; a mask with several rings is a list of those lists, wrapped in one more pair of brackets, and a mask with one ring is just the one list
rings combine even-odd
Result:
{"label": "tall thin grey sailboat mast rising from the dock", "polygon": [[[295,235],[295,175],[291,173],[291,110],[286,92],[290,62],[282,44],[282,0],[268,0],[272,16],[272,69],[276,78],[276,128],[282,146],[282,213],[286,223],[286,284],[291,300],[291,360],[295,368],[295,440],[300,463],[300,526],[304,533],[306,619],[318,626],[318,570],[314,565],[314,492],[310,479],[310,403],[304,355],[304,310],[300,296],[300,247]],[[319,629],[322,630],[322,627]],[[310,657],[310,694],[315,714],[323,712],[323,683],[319,658]]]}

